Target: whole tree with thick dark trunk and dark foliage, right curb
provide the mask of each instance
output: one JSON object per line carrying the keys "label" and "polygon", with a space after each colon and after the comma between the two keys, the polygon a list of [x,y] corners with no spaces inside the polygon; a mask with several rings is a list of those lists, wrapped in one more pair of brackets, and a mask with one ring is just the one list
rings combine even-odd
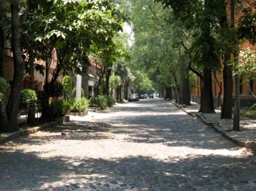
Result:
{"label": "whole tree with thick dark trunk and dark foliage, right curb", "polygon": [[191,55],[192,61],[203,68],[203,92],[200,112],[214,113],[212,96],[212,69],[220,67],[216,40],[212,36],[212,28],[216,28],[213,17],[213,2],[202,1],[162,1],[165,7],[171,7],[176,18],[193,29]]}

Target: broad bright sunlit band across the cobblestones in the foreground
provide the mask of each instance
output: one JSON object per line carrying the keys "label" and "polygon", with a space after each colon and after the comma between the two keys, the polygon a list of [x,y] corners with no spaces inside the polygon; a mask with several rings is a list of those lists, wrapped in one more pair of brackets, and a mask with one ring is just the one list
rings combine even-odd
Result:
{"label": "broad bright sunlit band across the cobblestones in the foreground", "polygon": [[[98,140],[55,140],[55,142],[35,145],[24,152],[35,152],[40,158],[69,157],[69,158],[93,158],[93,159],[115,159],[126,158],[127,156],[147,156],[156,160],[166,160],[175,157],[187,158],[188,155],[221,155],[239,156],[243,149],[206,149],[192,148],[189,146],[167,146],[163,143],[144,143],[148,138],[137,138],[137,142],[131,142],[129,137],[119,137],[118,139],[98,139]],[[142,141],[142,142],[140,142]],[[150,142],[150,139],[148,140]],[[75,147],[74,147],[75,146]],[[43,152],[42,152],[43,151]]]}

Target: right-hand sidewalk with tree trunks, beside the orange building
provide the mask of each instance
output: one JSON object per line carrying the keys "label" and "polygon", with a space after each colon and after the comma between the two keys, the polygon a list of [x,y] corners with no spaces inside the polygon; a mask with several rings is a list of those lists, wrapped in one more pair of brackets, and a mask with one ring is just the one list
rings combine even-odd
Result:
{"label": "right-hand sidewalk with tree trunks, beside the orange building", "polygon": [[240,131],[232,131],[233,118],[221,119],[221,112],[216,110],[216,113],[199,113],[200,104],[191,102],[191,106],[182,107],[172,102],[177,108],[183,109],[184,112],[191,116],[199,117],[205,124],[211,126],[218,133],[230,139],[238,146],[250,148],[256,153],[256,120],[250,118],[240,118]]}

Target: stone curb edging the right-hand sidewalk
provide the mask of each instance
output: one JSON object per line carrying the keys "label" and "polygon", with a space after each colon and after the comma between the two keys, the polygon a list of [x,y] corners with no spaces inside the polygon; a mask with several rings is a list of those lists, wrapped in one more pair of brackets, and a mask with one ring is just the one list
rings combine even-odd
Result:
{"label": "stone curb edging the right-hand sidewalk", "polygon": [[[178,104],[176,103],[172,103],[173,105],[175,105],[175,107],[182,109],[185,113],[189,114],[189,116],[194,116],[191,112],[186,111],[183,107],[180,107]],[[201,121],[204,122],[205,125],[210,126],[211,128],[213,128],[214,130],[216,130],[218,133],[220,133],[222,136],[224,136],[225,138],[229,139],[230,141],[232,141],[233,143],[235,143],[237,146],[240,147],[246,147],[246,148],[250,148],[251,150],[253,150],[256,153],[256,142],[253,141],[249,141],[249,142],[245,142],[245,141],[240,141],[239,139],[230,137],[225,130],[221,129],[220,125],[218,125],[218,121],[216,123],[213,122],[209,122],[205,117],[203,113],[196,113],[196,116],[198,118],[200,118]]]}

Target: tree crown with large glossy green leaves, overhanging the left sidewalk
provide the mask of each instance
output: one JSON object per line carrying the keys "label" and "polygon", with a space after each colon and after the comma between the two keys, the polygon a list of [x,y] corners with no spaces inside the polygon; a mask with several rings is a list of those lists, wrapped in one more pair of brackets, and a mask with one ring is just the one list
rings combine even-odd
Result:
{"label": "tree crown with large glossy green leaves, overhanging the left sidewalk", "polygon": [[[52,63],[56,63],[51,82],[48,84],[46,77],[44,86],[49,95],[49,87],[61,72],[75,70],[81,74],[77,62],[86,71],[90,52],[113,44],[122,16],[112,0],[40,1],[38,7],[31,13],[31,22],[23,14],[23,33],[29,34],[28,40],[35,45],[36,58],[46,62],[47,77]],[[37,65],[36,69],[43,71],[43,66]]]}

